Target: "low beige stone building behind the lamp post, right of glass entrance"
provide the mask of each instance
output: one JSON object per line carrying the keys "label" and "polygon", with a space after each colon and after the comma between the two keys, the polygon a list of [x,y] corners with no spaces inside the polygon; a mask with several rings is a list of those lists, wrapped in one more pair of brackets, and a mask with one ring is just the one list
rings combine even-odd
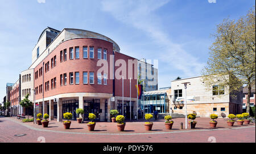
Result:
{"label": "low beige stone building behind the lamp post, right of glass entrance", "polygon": [[210,114],[217,114],[218,117],[227,117],[228,114],[242,113],[242,91],[230,95],[229,87],[213,85],[207,88],[202,76],[193,78],[173,80],[171,82],[172,113],[185,115],[185,82],[187,84],[187,113],[196,113],[200,117],[209,117]]}

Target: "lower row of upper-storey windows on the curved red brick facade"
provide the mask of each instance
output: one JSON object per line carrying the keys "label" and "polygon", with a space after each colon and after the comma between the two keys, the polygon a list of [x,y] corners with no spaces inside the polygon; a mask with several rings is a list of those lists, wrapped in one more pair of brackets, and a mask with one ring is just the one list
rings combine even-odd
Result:
{"label": "lower row of upper-storey windows on the curved red brick facade", "polygon": [[[75,80],[74,80],[75,79]],[[103,79],[103,84],[107,85],[107,74],[104,73],[103,76],[101,73],[97,74],[97,83],[102,84],[102,79]],[[69,84],[80,84],[80,72],[69,72]],[[82,83],[83,84],[88,84],[88,72],[82,72]],[[89,84],[94,84],[94,72],[89,72]],[[49,91],[49,81],[44,83],[44,91]],[[51,89],[56,88],[57,81],[56,77],[51,79]],[[60,74],[60,86],[67,85],[67,73]],[[38,93],[43,92],[43,85],[39,85],[39,88],[36,87],[36,95]]]}

